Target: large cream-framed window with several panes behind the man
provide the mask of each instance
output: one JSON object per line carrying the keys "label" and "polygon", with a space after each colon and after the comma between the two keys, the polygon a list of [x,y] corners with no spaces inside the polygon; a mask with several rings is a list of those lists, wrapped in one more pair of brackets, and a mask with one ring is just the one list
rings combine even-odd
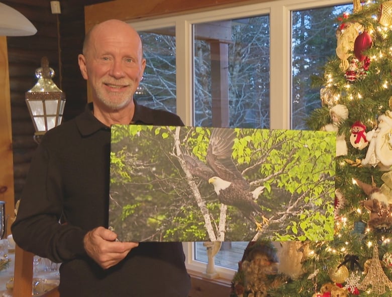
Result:
{"label": "large cream-framed window with several panes behind the man", "polygon": [[[334,53],[336,17],[351,9],[347,3],[280,0],[132,23],[142,35],[160,34],[153,43],[170,36],[170,50],[175,47],[170,56],[172,76],[175,57],[175,81],[169,84],[174,96],[154,106],[176,110],[186,125],[304,129],[304,118],[320,104],[310,76]],[[162,28],[170,28],[171,34]],[[216,59],[217,54],[226,60]],[[214,73],[216,65],[227,65],[226,74]],[[143,84],[148,84],[145,76]],[[218,253],[215,264],[221,265],[217,270],[222,277],[231,279],[246,244],[232,242],[219,252],[230,253],[230,261]],[[183,245],[187,267],[205,271],[203,243]]]}

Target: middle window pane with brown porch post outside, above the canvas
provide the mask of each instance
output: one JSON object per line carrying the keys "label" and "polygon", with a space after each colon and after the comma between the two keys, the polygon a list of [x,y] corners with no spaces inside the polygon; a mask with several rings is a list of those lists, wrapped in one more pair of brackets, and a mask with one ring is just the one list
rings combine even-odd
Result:
{"label": "middle window pane with brown porch post outside, above the canvas", "polygon": [[269,16],[194,25],[194,125],[269,127]]}

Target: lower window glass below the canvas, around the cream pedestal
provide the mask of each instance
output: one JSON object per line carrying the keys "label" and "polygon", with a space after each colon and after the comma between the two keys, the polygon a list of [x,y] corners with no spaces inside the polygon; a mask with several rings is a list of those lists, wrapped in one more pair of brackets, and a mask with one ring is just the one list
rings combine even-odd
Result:
{"label": "lower window glass below the canvas, around the cream pedestal", "polygon": [[[215,255],[215,265],[237,270],[238,262],[241,261],[248,243],[247,241],[222,242],[221,249]],[[203,242],[195,242],[193,248],[194,259],[207,263],[207,252]]]}

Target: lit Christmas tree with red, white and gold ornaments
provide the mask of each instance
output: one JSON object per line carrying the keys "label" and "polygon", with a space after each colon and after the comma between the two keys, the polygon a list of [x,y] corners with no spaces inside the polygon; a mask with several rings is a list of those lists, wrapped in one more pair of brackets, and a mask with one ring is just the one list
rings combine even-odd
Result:
{"label": "lit Christmas tree with red, white and gold ornaments", "polygon": [[322,107],[307,119],[337,133],[334,239],[303,243],[303,273],[268,296],[392,295],[392,1],[353,5],[338,20],[336,56],[313,78]]}

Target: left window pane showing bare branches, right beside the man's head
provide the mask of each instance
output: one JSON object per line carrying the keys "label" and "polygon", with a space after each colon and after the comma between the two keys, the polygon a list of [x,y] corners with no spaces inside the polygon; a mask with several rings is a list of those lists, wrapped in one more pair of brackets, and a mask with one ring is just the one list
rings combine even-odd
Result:
{"label": "left window pane showing bare branches, right beside the man's head", "polygon": [[146,69],[135,98],[145,106],[176,112],[175,29],[139,32]]}

